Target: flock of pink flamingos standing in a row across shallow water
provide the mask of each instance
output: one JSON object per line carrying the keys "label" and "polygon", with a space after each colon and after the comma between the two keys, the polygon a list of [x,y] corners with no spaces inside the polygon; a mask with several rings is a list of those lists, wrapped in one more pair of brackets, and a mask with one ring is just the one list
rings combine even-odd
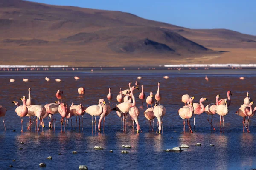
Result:
{"label": "flock of pink flamingos standing in a row across shallow water", "polygon": [[[137,77],[137,79],[141,79],[142,77]],[[165,78],[165,77],[164,77]],[[77,77],[75,77],[77,79]],[[209,78],[206,76],[205,79],[208,81]],[[47,80],[47,77],[46,77]],[[49,81],[49,80],[47,80]],[[21,131],[23,131],[23,118],[29,117],[29,126],[27,127],[28,130],[31,130],[31,125],[35,121],[35,130],[40,130],[40,127],[42,126],[42,130],[44,127],[44,118],[48,119],[49,121],[49,128],[52,128],[55,131],[55,122],[56,117],[55,115],[59,113],[61,115],[61,132],[63,132],[63,125],[64,125],[64,132],[66,123],[68,123],[67,119],[71,119],[72,116],[76,116],[76,122],[77,117],[79,117],[79,130],[80,130],[80,116],[82,116],[82,125],[81,129],[83,130],[83,115],[85,113],[92,116],[92,133],[93,133],[93,116],[95,116],[94,119],[94,129],[96,133],[96,116],[100,116],[99,123],[98,123],[98,131],[101,131],[101,122],[105,123],[105,116],[108,116],[111,111],[116,111],[117,115],[121,118],[121,125],[123,131],[126,131],[126,117],[128,114],[130,115],[130,119],[132,120],[132,124],[134,127],[134,121],[136,123],[136,130],[137,133],[142,132],[140,129],[140,124],[138,120],[138,116],[140,115],[139,109],[136,107],[136,99],[134,96],[134,91],[139,90],[138,83],[136,81],[135,85],[131,87],[131,82],[128,84],[129,89],[123,90],[120,88],[120,94],[117,95],[116,100],[119,102],[118,105],[111,108],[111,101],[113,101],[113,94],[111,94],[111,88],[109,88],[109,92],[107,94],[107,99],[109,101],[109,104],[106,104],[104,99],[99,99],[98,105],[92,105],[89,107],[84,107],[82,104],[79,105],[68,105],[67,102],[62,102],[62,99],[64,98],[63,91],[58,90],[56,93],[56,98],[58,99],[55,103],[49,103],[46,105],[37,105],[35,103],[35,100],[31,98],[31,88],[28,89],[28,99],[26,99],[25,96],[21,98],[20,100],[23,102],[22,105],[19,104],[18,101],[13,101],[15,105],[17,105],[17,108],[15,109],[15,112],[18,116],[20,116],[21,120]],[[83,87],[78,88],[79,97],[83,97],[85,94],[85,89]],[[186,121],[187,119],[187,125],[190,133],[193,133],[191,125],[190,125],[190,118],[194,115],[194,127],[195,127],[195,116],[200,115],[202,113],[208,114],[208,122],[211,125],[211,130],[215,130],[215,127],[212,125],[212,119],[209,121],[209,116],[213,116],[214,114],[220,115],[220,132],[224,133],[224,118],[228,113],[228,107],[231,104],[231,98],[232,95],[231,91],[227,91],[227,98],[225,99],[219,99],[220,95],[216,96],[216,102],[211,103],[204,107],[203,103],[207,98],[202,97],[199,100],[199,103],[193,103],[193,100],[195,99],[194,96],[190,97],[188,94],[184,94],[181,97],[181,101],[185,103],[185,105],[178,110],[178,114],[183,119],[183,132],[186,133]],[[147,109],[144,112],[144,116],[146,119],[150,122],[150,128],[153,131],[151,122],[154,122],[154,118],[157,118],[157,127],[158,127],[158,133],[163,133],[163,116],[166,113],[166,109],[163,105],[160,105],[160,101],[162,99],[162,95],[160,93],[160,82],[158,82],[158,88],[157,93],[155,96],[153,96],[152,91],[150,92],[150,95],[146,98],[145,93],[143,91],[143,85],[141,85],[141,93],[139,94],[138,98],[142,101],[146,99],[147,103]],[[123,101],[123,102],[122,102]],[[241,105],[241,107],[236,111],[236,114],[243,117],[243,126],[247,129],[247,132],[249,132],[249,119],[250,117],[253,117],[255,115],[256,107],[252,109],[253,105],[252,99],[249,97],[249,92],[247,92],[247,97],[244,98],[244,104]],[[153,107],[152,107],[153,106]],[[149,107],[149,108],[148,108]],[[6,114],[6,108],[3,106],[0,106],[0,117],[3,117],[3,124],[5,127],[4,122],[4,116]],[[36,117],[34,119],[34,116]],[[248,117],[248,123],[245,124],[245,118]],[[65,118],[65,120],[64,120]],[[39,119],[39,120],[38,120]],[[54,128],[53,128],[53,122],[54,122]],[[104,131],[104,123],[103,123],[103,131]],[[38,125],[39,124],[39,125]],[[76,123],[77,124],[77,123]],[[72,126],[72,119],[71,119],[71,126]],[[154,125],[153,125],[154,126]],[[243,131],[244,131],[243,127]],[[133,128],[134,129],[134,128]],[[6,130],[6,127],[5,127]],[[157,130],[156,130],[157,133]]]}

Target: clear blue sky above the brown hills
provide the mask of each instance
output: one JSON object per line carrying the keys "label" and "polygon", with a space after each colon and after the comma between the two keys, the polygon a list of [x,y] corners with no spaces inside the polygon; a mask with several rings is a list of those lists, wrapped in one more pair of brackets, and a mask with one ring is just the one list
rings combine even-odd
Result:
{"label": "clear blue sky above the brown hills", "polygon": [[186,28],[226,28],[256,35],[256,0],[30,0],[123,11]]}

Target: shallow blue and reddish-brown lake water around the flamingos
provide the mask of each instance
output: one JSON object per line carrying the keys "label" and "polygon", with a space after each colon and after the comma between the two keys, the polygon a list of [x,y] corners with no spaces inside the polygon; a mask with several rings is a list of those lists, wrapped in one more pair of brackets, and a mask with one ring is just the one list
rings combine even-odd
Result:
{"label": "shallow blue and reddish-brown lake water around the flamingos", "polygon": [[[207,82],[204,77],[210,78]],[[163,76],[169,79],[163,79]],[[45,81],[45,77],[51,79]],[[74,76],[80,77],[75,81]],[[35,132],[35,124],[32,130],[26,130],[29,118],[24,118],[23,129],[20,132],[20,117],[15,113],[16,106],[12,101],[17,101],[22,96],[28,96],[28,88],[31,88],[31,96],[37,104],[45,105],[57,100],[57,90],[64,91],[64,99],[69,105],[82,103],[84,106],[97,105],[103,98],[108,103],[106,96],[111,87],[113,102],[116,105],[116,95],[119,88],[127,89],[128,82],[135,84],[136,77],[144,85],[146,96],[152,91],[157,92],[157,82],[160,82],[162,94],[161,105],[166,108],[163,117],[163,134],[156,134],[156,122],[154,132],[149,130],[149,122],[143,115],[146,105],[142,105],[135,92],[137,107],[140,110],[139,122],[142,133],[133,133],[131,122],[127,122],[127,132],[121,130],[120,118],[112,111],[106,116],[105,132],[92,134],[91,119],[88,114],[83,116],[83,131],[75,130],[76,118],[73,119],[73,129],[70,121],[65,133],[60,133],[61,123],[59,114],[56,115],[56,129],[48,128],[48,119],[44,119],[46,127],[44,131]],[[239,77],[245,77],[240,80]],[[9,79],[15,82],[9,82]],[[28,78],[29,82],[23,82]],[[62,82],[57,83],[59,78]],[[89,170],[108,169],[234,169],[248,170],[256,168],[256,120],[250,119],[250,133],[243,133],[242,118],[236,115],[236,111],[243,104],[246,92],[250,92],[255,99],[256,70],[96,70],[90,71],[6,71],[0,72],[1,95],[0,105],[6,107],[5,118],[6,131],[0,118],[0,169],[42,169],[39,163],[45,162],[43,169],[78,169],[79,165],[87,165]],[[77,89],[85,88],[85,96],[79,98]],[[181,96],[189,94],[195,96],[194,102],[199,102],[201,97],[208,101],[204,106],[215,102],[215,96],[227,97],[227,91],[232,91],[229,113],[225,116],[225,133],[220,133],[219,116],[213,116],[213,126],[216,131],[210,131],[207,122],[207,114],[196,116],[195,133],[181,133],[183,131],[183,119],[177,114],[183,107]],[[145,102],[145,101],[144,101]],[[96,118],[98,122],[99,117]],[[193,124],[193,120],[190,122]],[[103,122],[102,122],[103,126]],[[192,126],[193,127],[193,126]],[[187,127],[186,127],[187,128]],[[192,128],[193,129],[193,128]],[[16,130],[13,132],[13,130]],[[187,130],[187,129],[186,129]],[[186,131],[187,132],[187,131]],[[24,144],[21,144],[24,142]],[[202,146],[195,146],[201,142]],[[131,145],[125,149],[123,144]],[[183,152],[164,152],[181,144],[189,145]],[[210,144],[214,144],[211,147]],[[94,150],[95,145],[102,146],[103,150]],[[22,149],[20,149],[22,148]],[[113,150],[113,153],[109,152]],[[122,154],[122,150],[128,150],[128,154]],[[73,154],[72,151],[77,151]],[[61,153],[61,155],[59,155]],[[52,156],[52,160],[46,159]],[[15,159],[16,161],[12,161]],[[13,167],[9,167],[13,165]]]}

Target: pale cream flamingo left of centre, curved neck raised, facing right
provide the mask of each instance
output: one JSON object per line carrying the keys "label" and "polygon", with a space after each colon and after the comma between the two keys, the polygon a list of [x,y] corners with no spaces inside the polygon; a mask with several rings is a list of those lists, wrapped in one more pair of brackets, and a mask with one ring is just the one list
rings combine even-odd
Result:
{"label": "pale cream flamingo left of centre, curved neck raised, facing right", "polygon": [[106,105],[104,99],[99,99],[99,105],[89,106],[85,110],[85,113],[90,114],[92,116],[92,133],[93,133],[93,116],[95,116],[94,125],[95,125],[95,133],[96,133],[96,116],[100,116],[103,113],[103,107],[102,107],[101,103]]}

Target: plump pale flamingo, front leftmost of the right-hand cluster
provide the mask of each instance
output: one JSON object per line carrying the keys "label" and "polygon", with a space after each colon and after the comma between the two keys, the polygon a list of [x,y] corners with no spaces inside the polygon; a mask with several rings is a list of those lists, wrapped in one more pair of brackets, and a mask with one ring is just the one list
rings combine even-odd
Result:
{"label": "plump pale flamingo, front leftmost of the right-hand cluster", "polygon": [[192,110],[193,107],[193,103],[188,104],[187,106],[183,106],[182,108],[179,109],[178,113],[180,115],[180,117],[183,119],[183,132],[186,133],[186,129],[185,129],[185,119],[187,119],[188,122],[188,126],[189,126],[189,131],[191,133],[192,129],[191,129],[191,125],[190,125],[190,118],[193,116],[194,111]]}

